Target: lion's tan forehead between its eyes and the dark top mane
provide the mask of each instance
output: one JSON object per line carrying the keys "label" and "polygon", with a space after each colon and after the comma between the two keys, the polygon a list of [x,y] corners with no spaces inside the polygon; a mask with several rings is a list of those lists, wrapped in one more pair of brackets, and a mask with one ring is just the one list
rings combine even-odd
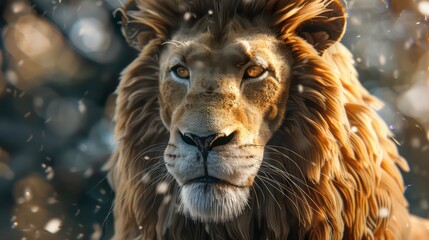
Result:
{"label": "lion's tan forehead between its eyes and the dark top mane", "polygon": [[234,34],[222,44],[213,42],[207,33],[196,36],[177,35],[165,44],[168,47],[162,53],[161,65],[169,60],[182,58],[193,69],[209,71],[228,67],[237,67],[254,55],[261,56],[270,62],[282,59],[282,53],[276,46],[278,40],[269,34]]}

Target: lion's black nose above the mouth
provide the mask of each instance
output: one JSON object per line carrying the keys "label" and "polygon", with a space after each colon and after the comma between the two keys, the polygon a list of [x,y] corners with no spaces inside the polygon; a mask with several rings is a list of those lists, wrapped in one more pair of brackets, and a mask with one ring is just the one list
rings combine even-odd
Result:
{"label": "lion's black nose above the mouth", "polygon": [[235,134],[236,133],[233,132],[226,136],[224,133],[215,133],[200,137],[192,133],[180,133],[180,136],[185,143],[196,146],[201,153],[206,153],[211,151],[214,147],[228,144],[234,138]]}

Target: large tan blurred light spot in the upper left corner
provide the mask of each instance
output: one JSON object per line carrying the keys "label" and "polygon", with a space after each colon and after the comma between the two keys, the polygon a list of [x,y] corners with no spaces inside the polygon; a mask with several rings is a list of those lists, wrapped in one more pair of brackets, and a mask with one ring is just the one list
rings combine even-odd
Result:
{"label": "large tan blurred light spot in the upper left corner", "polygon": [[32,11],[28,2],[17,1],[10,8],[3,31],[9,58],[8,82],[28,90],[56,75],[70,80],[80,66],[58,28]]}

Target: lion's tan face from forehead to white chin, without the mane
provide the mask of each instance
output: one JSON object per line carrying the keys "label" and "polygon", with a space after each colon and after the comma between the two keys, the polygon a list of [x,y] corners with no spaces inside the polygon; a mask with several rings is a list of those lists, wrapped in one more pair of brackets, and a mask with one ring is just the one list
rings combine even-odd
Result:
{"label": "lion's tan face from forehead to white chin, without the mane", "polygon": [[[264,146],[285,113],[289,69],[272,35],[230,36],[216,47],[209,38],[176,36],[161,54],[160,112],[170,131],[164,161],[183,213],[225,222],[248,204]],[[177,65],[189,79],[172,75]],[[243,79],[254,65],[266,73]]]}

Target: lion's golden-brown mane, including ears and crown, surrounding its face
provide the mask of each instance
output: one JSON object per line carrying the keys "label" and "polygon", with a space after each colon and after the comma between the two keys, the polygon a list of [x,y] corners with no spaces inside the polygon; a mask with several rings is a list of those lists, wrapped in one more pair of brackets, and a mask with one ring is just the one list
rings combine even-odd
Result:
{"label": "lion's golden-brown mane, including ears and crown, surrounding its face", "polygon": [[[360,85],[351,54],[335,43],[343,33],[341,5],[219,2],[137,0],[122,10],[124,34],[141,52],[124,70],[117,92],[118,147],[110,162],[114,238],[407,239],[410,220],[398,168],[407,170],[407,163],[374,110],[379,102]],[[219,42],[231,29],[225,21],[234,19],[240,29],[247,18],[263,15],[291,59],[286,112],[265,146],[259,173],[272,180],[257,178],[249,206],[226,223],[202,223],[181,214],[180,186],[162,161],[169,131],[160,116],[159,58],[163,44],[188,29],[179,22],[189,9],[178,6],[188,6],[196,18],[214,9],[217,19],[196,21],[190,31],[209,28]],[[228,12],[231,8],[240,10]],[[180,91],[177,87],[176,94]],[[161,111],[174,104],[164,100]],[[168,188],[160,189],[159,183]]]}

